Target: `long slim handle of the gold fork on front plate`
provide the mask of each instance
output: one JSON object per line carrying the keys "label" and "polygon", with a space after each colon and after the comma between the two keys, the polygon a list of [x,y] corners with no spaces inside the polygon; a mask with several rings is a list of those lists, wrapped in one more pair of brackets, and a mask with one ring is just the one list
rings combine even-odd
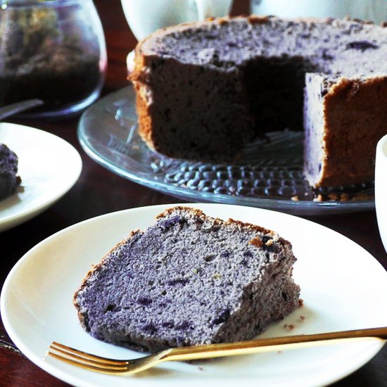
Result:
{"label": "long slim handle of the gold fork on front plate", "polygon": [[172,348],[165,351],[161,361],[198,360],[211,357],[248,355],[278,350],[315,347],[343,342],[387,339],[387,327],[355,329],[352,331],[329,332],[326,334],[295,335],[274,338],[261,338],[237,343],[197,345],[193,347]]}

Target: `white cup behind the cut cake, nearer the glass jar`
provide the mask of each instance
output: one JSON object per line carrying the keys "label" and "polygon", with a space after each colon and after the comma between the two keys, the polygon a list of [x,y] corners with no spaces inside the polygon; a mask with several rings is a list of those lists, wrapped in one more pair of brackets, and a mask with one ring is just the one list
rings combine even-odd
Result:
{"label": "white cup behind the cut cake, nearer the glass jar", "polygon": [[232,0],[121,0],[134,36],[144,39],[170,25],[229,15]]}

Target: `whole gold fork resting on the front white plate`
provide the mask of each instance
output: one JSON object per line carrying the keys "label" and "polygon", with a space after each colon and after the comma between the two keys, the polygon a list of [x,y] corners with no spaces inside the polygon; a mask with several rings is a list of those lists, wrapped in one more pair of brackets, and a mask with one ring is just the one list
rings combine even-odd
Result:
{"label": "whole gold fork resting on the front white plate", "polygon": [[194,347],[170,348],[153,355],[139,357],[132,360],[114,360],[106,357],[91,355],[67,345],[53,341],[47,355],[56,357],[78,367],[103,372],[106,374],[136,374],[145,369],[155,367],[162,362],[177,360],[198,360],[210,357],[224,357],[234,355],[249,355],[296,348],[307,348],[317,345],[337,344],[343,342],[381,340],[387,338],[387,327],[357,329],[353,331],[338,331],[326,334],[310,334],[261,338],[253,341],[238,343],[221,343],[198,345]]}

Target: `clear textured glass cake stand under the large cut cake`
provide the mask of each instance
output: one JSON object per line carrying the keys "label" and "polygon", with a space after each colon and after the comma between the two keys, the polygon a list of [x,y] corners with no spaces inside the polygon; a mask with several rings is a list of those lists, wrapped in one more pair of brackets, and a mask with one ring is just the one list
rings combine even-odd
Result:
{"label": "clear textured glass cake stand under the large cut cake", "polygon": [[104,97],[83,114],[78,138],[108,170],[191,202],[248,205],[296,215],[374,208],[374,183],[312,189],[303,177],[303,132],[270,132],[248,144],[235,163],[202,163],[152,151],[137,132],[132,86]]}

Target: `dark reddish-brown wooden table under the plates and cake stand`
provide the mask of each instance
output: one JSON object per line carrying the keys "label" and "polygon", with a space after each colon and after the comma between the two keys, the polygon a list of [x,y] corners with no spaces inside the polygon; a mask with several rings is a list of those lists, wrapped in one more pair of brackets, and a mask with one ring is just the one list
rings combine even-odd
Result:
{"label": "dark reddish-brown wooden table under the plates and cake stand", "polygon": [[[120,1],[96,0],[94,3],[101,16],[108,46],[108,75],[103,89],[103,94],[108,94],[127,85],[125,58],[134,48],[136,39],[129,31]],[[236,0],[233,13],[248,13],[248,1]],[[181,202],[118,177],[91,160],[77,141],[78,119],[79,117],[50,121],[13,120],[16,123],[44,129],[68,141],[80,152],[83,170],[75,186],[49,210],[25,224],[0,233],[1,284],[4,283],[13,265],[30,248],[56,231],[107,212]],[[373,210],[307,218],[353,239],[387,268],[387,254],[381,244]],[[12,343],[1,322],[0,335],[0,386],[66,385],[27,360]],[[387,346],[364,367],[339,381],[335,386],[387,386]]]}

